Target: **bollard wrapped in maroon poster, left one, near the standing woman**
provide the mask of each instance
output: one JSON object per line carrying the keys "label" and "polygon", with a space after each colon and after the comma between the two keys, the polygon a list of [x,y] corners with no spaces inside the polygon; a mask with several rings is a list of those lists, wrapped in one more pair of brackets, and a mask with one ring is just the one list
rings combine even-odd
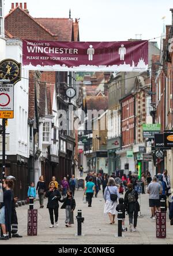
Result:
{"label": "bollard wrapped in maroon poster, left one, near the standing woman", "polygon": [[37,210],[33,209],[33,199],[29,198],[28,236],[37,236]]}

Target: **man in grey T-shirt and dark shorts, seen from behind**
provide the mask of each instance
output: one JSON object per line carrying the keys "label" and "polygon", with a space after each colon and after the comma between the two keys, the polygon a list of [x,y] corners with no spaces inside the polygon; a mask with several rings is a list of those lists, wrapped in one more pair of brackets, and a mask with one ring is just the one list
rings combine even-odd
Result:
{"label": "man in grey T-shirt and dark shorts, seen from behind", "polygon": [[157,183],[157,177],[153,177],[153,182],[148,185],[149,207],[152,210],[152,219],[156,220],[156,208],[160,211],[159,195],[161,194],[161,185]]}

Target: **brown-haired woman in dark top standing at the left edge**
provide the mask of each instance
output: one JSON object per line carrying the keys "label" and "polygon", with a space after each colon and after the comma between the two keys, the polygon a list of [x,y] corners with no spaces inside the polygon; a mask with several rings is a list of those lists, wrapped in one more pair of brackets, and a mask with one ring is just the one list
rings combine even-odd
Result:
{"label": "brown-haired woman in dark top standing at the left edge", "polygon": [[0,240],[12,238],[11,235],[11,217],[12,217],[12,200],[13,200],[13,180],[5,180],[3,183],[3,203],[1,203],[0,224],[3,235]]}

